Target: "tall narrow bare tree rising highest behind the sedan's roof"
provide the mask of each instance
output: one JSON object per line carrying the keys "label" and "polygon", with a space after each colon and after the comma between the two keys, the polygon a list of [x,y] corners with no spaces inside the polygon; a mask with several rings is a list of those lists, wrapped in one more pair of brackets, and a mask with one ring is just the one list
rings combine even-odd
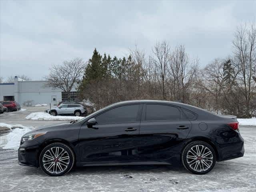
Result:
{"label": "tall narrow bare tree rising highest behind the sedan's roof", "polygon": [[170,63],[170,46],[166,41],[157,42],[152,49],[151,60],[156,67],[158,80],[162,85],[162,98],[166,99],[166,80]]}

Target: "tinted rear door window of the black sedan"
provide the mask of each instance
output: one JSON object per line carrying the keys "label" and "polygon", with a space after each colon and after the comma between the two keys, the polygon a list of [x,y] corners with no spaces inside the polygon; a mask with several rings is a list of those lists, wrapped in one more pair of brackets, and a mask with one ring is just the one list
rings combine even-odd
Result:
{"label": "tinted rear door window of the black sedan", "polygon": [[168,105],[147,104],[146,121],[180,119],[180,110]]}

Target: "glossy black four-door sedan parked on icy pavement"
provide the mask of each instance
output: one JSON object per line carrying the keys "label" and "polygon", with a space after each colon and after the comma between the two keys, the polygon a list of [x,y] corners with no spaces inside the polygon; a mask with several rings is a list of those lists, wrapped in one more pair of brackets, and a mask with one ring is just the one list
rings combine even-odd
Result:
{"label": "glossy black four-door sedan parked on icy pavement", "polygon": [[74,165],[183,165],[208,173],[216,161],[244,155],[235,116],[156,100],[119,102],[82,120],[37,128],[22,136],[20,165],[41,166],[51,176]]}

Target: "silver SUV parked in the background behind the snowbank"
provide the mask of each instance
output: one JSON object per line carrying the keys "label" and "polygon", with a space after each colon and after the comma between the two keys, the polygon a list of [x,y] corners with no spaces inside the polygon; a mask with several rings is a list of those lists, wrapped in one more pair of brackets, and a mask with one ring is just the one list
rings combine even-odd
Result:
{"label": "silver SUV parked in the background behind the snowbank", "polygon": [[86,107],[81,104],[61,104],[60,106],[52,109],[45,110],[46,113],[50,113],[53,116],[74,114],[75,116],[81,116],[86,114]]}

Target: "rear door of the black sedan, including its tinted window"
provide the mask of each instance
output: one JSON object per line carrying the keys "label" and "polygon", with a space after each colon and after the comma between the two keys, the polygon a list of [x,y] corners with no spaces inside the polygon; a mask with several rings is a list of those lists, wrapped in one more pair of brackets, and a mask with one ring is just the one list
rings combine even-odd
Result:
{"label": "rear door of the black sedan, including its tinted window", "polygon": [[[154,111],[154,106],[159,111]],[[177,120],[177,118],[180,118],[180,110],[174,106],[145,104],[142,117],[140,136],[146,137],[148,140],[159,140],[159,137],[161,137],[161,140],[154,143],[154,145],[148,143],[140,147],[138,158],[147,161],[167,160],[172,156],[179,155],[180,149],[177,150],[176,146],[188,136],[191,130],[189,120]],[[147,121],[149,119],[154,120]]]}

